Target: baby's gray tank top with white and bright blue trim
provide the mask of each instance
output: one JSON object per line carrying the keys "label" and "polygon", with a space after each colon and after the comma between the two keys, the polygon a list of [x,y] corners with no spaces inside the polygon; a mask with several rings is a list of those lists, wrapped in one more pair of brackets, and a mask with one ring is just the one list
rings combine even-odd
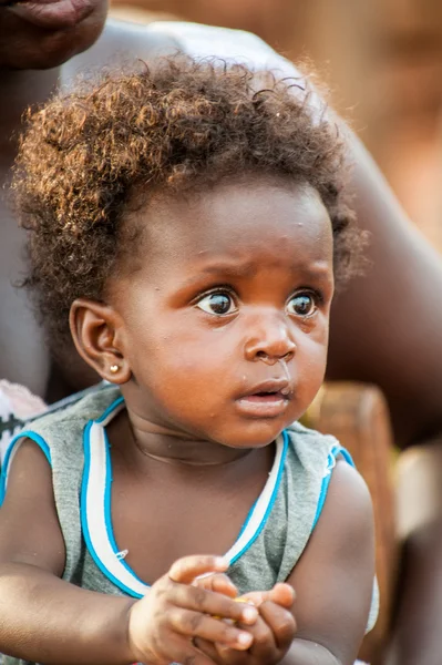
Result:
{"label": "baby's gray tank top with white and bright blue trim", "polygon": [[[0,505],[13,457],[25,438],[32,439],[52,468],[66,550],[62,579],[90,591],[142,597],[148,586],[124,561],[125,552],[119,550],[112,530],[106,426],[122,409],[120,390],[105,386],[34,420],[9,447],[0,481]],[[321,513],[338,456],[351,463],[333,437],[297,422],[278,438],[268,480],[225,553],[230,562],[227,574],[241,594],[271,589],[290,575]],[[376,623],[378,605],[374,583],[368,631]],[[24,665],[7,656],[3,661],[0,656],[0,663]]]}

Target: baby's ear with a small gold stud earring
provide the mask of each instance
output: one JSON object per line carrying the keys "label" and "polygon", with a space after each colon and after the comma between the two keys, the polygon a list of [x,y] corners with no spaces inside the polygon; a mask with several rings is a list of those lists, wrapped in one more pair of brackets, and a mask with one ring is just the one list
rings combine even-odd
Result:
{"label": "baby's ear with a small gold stud earring", "polygon": [[132,376],[122,352],[122,320],[109,305],[78,298],[69,316],[72,338],[80,356],[106,381],[125,383]]}

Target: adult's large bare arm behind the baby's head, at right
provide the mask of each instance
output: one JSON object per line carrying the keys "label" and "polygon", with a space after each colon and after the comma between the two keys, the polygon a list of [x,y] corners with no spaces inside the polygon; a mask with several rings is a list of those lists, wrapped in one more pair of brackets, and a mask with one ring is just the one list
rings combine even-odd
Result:
{"label": "adult's large bare arm behind the baby's head, at right", "polygon": [[328,377],[377,383],[404,447],[442,430],[442,260],[411,225],[363,145],[347,130],[367,275],[333,305]]}

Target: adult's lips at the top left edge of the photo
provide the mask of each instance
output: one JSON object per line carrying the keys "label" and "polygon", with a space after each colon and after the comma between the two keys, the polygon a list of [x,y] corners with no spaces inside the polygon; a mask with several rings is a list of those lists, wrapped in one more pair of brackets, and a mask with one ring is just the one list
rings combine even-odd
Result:
{"label": "adult's lips at the top left edge of the photo", "polygon": [[19,2],[6,9],[39,28],[65,30],[85,19],[95,4],[94,0],[43,0]]}

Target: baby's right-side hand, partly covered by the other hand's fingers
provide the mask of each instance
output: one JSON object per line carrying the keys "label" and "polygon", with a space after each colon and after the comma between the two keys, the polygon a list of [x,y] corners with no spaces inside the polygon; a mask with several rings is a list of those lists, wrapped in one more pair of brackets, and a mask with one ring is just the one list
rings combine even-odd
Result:
{"label": "baby's right-side hand, partly covered by the other hand's fingers", "polygon": [[[248,651],[232,649],[224,644],[210,644],[206,640],[196,640],[196,645],[218,665],[274,665],[279,663],[296,633],[296,622],[290,608],[295,592],[288,584],[276,584],[265,592],[253,592],[240,596],[240,601],[259,607],[259,617],[247,632],[253,635],[253,645]],[[238,627],[241,627],[239,624]]]}

